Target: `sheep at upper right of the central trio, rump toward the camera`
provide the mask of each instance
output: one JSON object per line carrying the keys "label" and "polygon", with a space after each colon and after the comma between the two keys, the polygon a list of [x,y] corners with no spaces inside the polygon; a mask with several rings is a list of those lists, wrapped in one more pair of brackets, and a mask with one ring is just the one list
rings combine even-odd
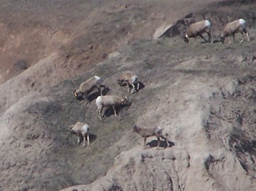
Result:
{"label": "sheep at upper right of the central trio, rump toward the camera", "polygon": [[[124,73],[122,73],[118,79],[117,79],[117,83],[120,86],[128,86],[128,92],[131,91],[131,94],[133,94],[134,92],[137,92],[139,90],[139,83],[138,83],[138,77],[136,74],[134,74],[131,71],[126,71]],[[137,89],[135,89],[135,84],[137,84]]]}

